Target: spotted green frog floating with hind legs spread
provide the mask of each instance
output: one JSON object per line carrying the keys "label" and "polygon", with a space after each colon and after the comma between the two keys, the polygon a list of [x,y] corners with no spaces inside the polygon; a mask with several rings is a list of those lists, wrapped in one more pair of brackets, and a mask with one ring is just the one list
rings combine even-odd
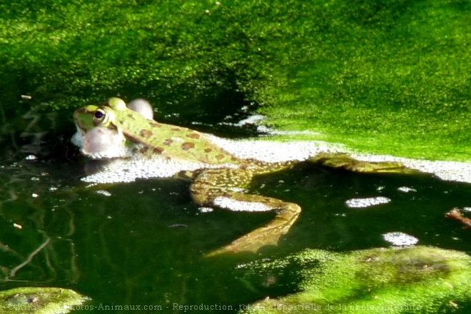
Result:
{"label": "spotted green frog floating with hind legs spread", "polygon": [[[136,109],[134,109],[136,110]],[[78,132],[74,143],[93,159],[152,159],[156,167],[166,167],[162,176],[192,181],[191,196],[198,206],[231,211],[275,211],[266,226],[234,240],[216,253],[252,251],[276,245],[301,211],[295,203],[246,193],[253,176],[280,171],[300,161],[266,162],[238,158],[219,147],[212,135],[153,121],[126,107],[119,98],[103,106],[86,106],[74,113]],[[308,161],[334,168],[368,173],[406,173],[397,162],[366,163],[345,155],[319,153]]]}

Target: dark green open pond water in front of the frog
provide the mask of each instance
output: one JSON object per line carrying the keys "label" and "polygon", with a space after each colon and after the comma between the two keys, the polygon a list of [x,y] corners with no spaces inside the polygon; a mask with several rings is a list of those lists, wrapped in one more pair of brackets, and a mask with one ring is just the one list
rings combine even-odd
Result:
{"label": "dark green open pond water in front of the frog", "polygon": [[[59,123],[64,115],[71,113],[39,115],[39,121]],[[202,213],[191,201],[188,183],[171,179],[88,186],[80,181],[83,163],[67,144],[74,131],[71,119],[48,125],[42,127],[46,133],[4,134],[0,289],[72,288],[92,299],[76,313],[121,305],[183,313],[180,305],[201,304],[212,308],[200,313],[233,312],[267,295],[293,292],[291,282],[247,282],[237,265],[304,248],[388,247],[383,235],[389,232],[407,233],[420,245],[471,252],[470,231],[445,218],[451,208],[471,206],[469,184],[301,164],[260,176],[250,186],[255,193],[303,208],[278,246],[258,254],[205,258],[273,214]],[[27,157],[33,152],[36,158]],[[368,208],[345,203],[378,196],[391,201]]]}

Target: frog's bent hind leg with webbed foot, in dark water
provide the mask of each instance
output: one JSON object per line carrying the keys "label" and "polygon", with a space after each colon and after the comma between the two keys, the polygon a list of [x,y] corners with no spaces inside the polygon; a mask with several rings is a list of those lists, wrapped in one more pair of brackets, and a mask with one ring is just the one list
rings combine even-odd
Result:
{"label": "frog's bent hind leg with webbed foot, in dark water", "polygon": [[243,192],[252,180],[252,173],[243,169],[208,169],[191,184],[191,196],[200,206],[211,206],[230,211],[276,211],[267,225],[234,240],[231,244],[209,255],[228,252],[256,252],[265,245],[276,245],[280,236],[288,232],[298,218],[300,206],[276,198]]}

